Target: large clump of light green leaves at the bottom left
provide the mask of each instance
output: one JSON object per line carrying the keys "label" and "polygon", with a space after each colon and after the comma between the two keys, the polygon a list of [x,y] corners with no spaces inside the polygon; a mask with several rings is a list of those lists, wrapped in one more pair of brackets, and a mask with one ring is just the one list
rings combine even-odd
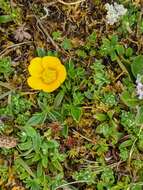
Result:
{"label": "large clump of light green leaves at the bottom left", "polygon": [[[51,177],[63,177],[63,167],[61,162],[64,161],[65,155],[59,153],[59,144],[52,139],[46,139],[30,126],[25,126],[24,131],[19,133],[21,142],[18,145],[22,155],[17,156],[15,160],[15,170],[31,190],[36,189],[53,189],[58,181],[54,180],[52,184]],[[30,150],[30,152],[29,152]],[[28,153],[29,152],[29,153]],[[28,153],[28,154],[27,154]],[[37,164],[37,168],[33,166]],[[48,173],[47,173],[48,169]],[[55,173],[54,176],[52,173]],[[51,177],[50,177],[51,176]]]}

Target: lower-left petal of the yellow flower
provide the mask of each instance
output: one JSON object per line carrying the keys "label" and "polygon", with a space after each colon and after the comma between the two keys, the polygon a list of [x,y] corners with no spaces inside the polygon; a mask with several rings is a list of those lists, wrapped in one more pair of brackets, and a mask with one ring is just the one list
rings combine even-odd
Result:
{"label": "lower-left petal of the yellow flower", "polygon": [[42,90],[43,88],[46,87],[46,84],[43,83],[41,78],[38,77],[29,77],[27,79],[28,85],[33,88],[34,90]]}

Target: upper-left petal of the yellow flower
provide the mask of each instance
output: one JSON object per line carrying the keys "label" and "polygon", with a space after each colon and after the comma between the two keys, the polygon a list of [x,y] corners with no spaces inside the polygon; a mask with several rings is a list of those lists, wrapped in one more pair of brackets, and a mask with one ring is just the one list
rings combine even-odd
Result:
{"label": "upper-left petal of the yellow flower", "polygon": [[31,60],[30,65],[28,67],[29,73],[34,77],[40,77],[43,71],[42,67],[42,58],[35,57]]}

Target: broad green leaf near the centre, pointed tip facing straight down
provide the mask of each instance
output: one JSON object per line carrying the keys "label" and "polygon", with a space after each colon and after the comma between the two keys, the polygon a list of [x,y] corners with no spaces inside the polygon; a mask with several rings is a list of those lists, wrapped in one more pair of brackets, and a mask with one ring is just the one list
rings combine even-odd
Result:
{"label": "broad green leaf near the centre, pointed tip facing straight down", "polygon": [[71,106],[71,115],[76,122],[79,122],[82,115],[82,108]]}

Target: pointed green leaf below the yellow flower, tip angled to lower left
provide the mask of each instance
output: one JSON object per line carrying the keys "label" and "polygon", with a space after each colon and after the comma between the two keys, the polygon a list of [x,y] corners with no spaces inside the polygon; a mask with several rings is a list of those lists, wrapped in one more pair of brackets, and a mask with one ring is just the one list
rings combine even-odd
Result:
{"label": "pointed green leaf below the yellow flower, tip angled to lower left", "polygon": [[30,126],[36,126],[36,125],[40,125],[43,124],[44,121],[46,120],[47,117],[47,113],[36,113],[34,114],[26,123],[26,125],[30,125]]}

